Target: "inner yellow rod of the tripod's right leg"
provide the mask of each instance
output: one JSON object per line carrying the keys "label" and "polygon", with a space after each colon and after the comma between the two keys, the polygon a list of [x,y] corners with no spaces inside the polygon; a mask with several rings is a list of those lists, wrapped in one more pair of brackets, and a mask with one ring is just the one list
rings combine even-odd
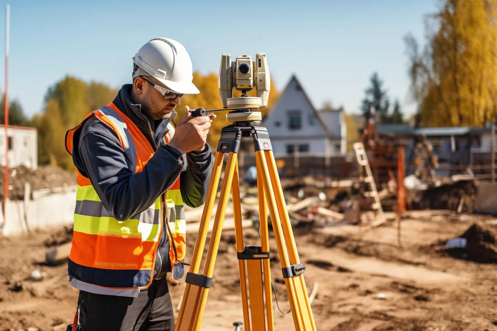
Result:
{"label": "inner yellow rod of the tripod's right leg", "polygon": [[[276,199],[274,197],[274,192],[272,187],[270,187],[270,176],[267,167],[266,159],[264,158],[264,151],[257,150],[255,152],[255,158],[257,161],[258,169],[262,172],[262,183],[264,185],[264,193],[269,198],[269,212],[271,215],[271,224],[273,225],[274,238],[276,239],[276,244],[278,246],[278,254],[280,257],[281,266],[283,268],[290,267],[290,261],[288,259],[288,253],[286,251],[285,238],[283,237],[283,229],[281,228],[281,222],[279,219],[279,214],[277,213]],[[285,285],[288,293],[288,299],[290,301],[290,307],[292,310],[293,322],[295,324],[295,330],[305,330],[302,325],[302,318],[298,312],[297,297],[295,295],[295,288],[293,283],[290,282],[289,277],[285,277]]]}

